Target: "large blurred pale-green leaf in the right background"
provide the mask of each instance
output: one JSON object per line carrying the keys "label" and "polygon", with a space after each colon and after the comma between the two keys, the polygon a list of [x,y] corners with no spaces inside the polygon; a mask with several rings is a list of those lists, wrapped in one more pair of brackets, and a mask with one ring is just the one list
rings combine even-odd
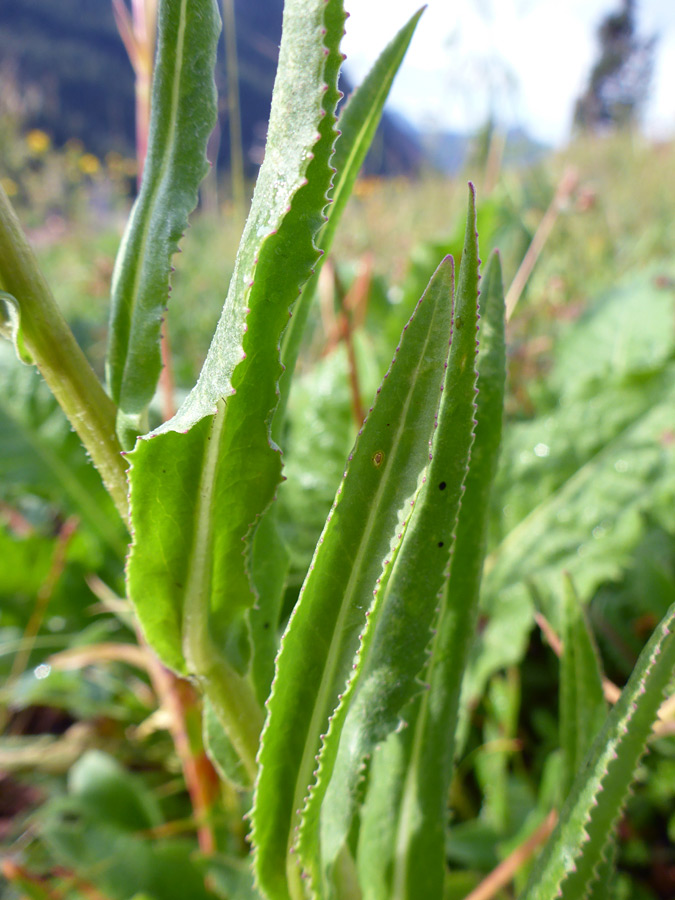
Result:
{"label": "large blurred pale-green leaf in the right background", "polygon": [[659,273],[633,276],[589,304],[555,351],[556,405],[506,429],[495,484],[501,540],[486,561],[489,619],[467,700],[522,659],[533,589],[558,630],[563,570],[586,603],[620,579],[649,522],[672,529],[674,304]]}

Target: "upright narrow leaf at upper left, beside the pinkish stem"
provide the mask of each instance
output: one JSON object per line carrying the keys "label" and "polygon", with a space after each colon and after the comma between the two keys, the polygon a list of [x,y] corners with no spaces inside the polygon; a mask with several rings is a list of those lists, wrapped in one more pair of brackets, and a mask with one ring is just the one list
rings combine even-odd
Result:
{"label": "upright narrow leaf at upper left, beside the pinkish stem", "polygon": [[162,367],[159,340],[171,257],[209,171],[216,124],[213,69],[220,18],[215,0],[159,4],[157,60],[143,183],[115,263],[107,378],[123,445],[145,430]]}

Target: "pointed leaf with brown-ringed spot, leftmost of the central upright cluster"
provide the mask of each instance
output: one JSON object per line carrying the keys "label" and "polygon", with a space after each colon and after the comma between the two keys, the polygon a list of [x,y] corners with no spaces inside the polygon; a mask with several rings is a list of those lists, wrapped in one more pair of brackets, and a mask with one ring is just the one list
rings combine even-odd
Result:
{"label": "pointed leaf with brown-ringed spot, leftmost of the central upright cluster", "polygon": [[404,331],[282,641],[253,811],[257,878],[275,900],[304,896],[290,854],[299,810],[352,672],[373,592],[394,563],[429,462],[448,355],[452,276],[446,260]]}

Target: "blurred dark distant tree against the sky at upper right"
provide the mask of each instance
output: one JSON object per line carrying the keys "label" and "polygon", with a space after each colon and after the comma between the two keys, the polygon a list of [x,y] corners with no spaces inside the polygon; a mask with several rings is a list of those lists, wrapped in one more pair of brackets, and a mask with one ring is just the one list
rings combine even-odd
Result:
{"label": "blurred dark distant tree against the sky at upper right", "polygon": [[649,93],[656,39],[638,38],[635,0],[623,0],[598,29],[599,58],[577,100],[574,125],[586,131],[625,128],[640,117]]}

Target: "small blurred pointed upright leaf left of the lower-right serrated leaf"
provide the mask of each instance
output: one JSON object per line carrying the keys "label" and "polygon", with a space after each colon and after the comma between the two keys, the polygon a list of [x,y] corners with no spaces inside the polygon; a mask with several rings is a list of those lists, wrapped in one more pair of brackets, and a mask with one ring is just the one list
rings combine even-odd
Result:
{"label": "small blurred pointed upright leaf left of the lower-right serrated leaf", "polygon": [[563,654],[560,660],[560,745],[563,751],[562,797],[572,787],[593,739],[607,715],[600,660],[572,579],[565,578]]}

